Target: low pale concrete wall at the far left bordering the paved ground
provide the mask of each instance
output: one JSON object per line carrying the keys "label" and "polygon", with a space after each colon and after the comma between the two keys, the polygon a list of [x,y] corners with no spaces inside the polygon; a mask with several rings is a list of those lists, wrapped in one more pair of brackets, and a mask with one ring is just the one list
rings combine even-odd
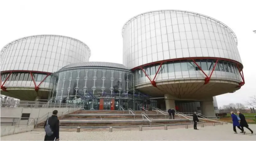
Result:
{"label": "low pale concrete wall at the far left bordering the paved ground", "polygon": [[34,125],[1,126],[1,136],[32,131]]}

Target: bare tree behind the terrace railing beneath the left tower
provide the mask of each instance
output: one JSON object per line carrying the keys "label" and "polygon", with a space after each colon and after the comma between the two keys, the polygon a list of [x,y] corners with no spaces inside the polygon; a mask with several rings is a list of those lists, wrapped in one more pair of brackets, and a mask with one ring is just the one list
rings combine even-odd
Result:
{"label": "bare tree behind the terrace railing beneath the left tower", "polygon": [[1,107],[17,107],[18,99],[1,94]]}

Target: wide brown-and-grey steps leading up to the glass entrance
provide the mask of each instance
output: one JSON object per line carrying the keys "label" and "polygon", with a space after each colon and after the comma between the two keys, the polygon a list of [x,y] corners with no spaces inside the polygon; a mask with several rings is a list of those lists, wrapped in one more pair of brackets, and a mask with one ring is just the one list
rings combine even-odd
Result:
{"label": "wide brown-and-grey steps leading up to the glass entrance", "polygon": [[[147,113],[151,122],[142,119],[142,112]],[[191,124],[191,120],[180,118],[175,115],[175,120],[169,120],[169,115],[157,114],[156,111],[134,111],[135,115],[129,111],[118,110],[80,110],[67,114],[60,119],[61,128],[108,128],[108,127],[138,127],[138,126],[163,126]],[[43,127],[44,123],[38,125]]]}

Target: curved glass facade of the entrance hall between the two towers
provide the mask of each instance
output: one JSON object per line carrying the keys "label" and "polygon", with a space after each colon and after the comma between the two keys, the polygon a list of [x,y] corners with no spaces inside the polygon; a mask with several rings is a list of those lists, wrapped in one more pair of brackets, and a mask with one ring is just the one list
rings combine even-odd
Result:
{"label": "curved glass facade of the entrance hall between the two towers", "polygon": [[[133,74],[130,71],[111,68],[83,68],[63,70],[51,79],[52,91],[49,101],[56,103],[77,103],[84,109],[99,109],[100,98],[115,99],[115,109],[123,106],[134,108],[137,100],[149,96],[134,89]],[[104,100],[104,106],[108,105]],[[108,109],[104,107],[104,109]]]}

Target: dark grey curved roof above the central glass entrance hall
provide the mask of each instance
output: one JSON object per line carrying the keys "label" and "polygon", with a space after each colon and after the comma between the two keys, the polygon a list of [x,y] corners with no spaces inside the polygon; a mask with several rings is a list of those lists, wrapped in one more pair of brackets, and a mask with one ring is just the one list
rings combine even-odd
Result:
{"label": "dark grey curved roof above the central glass entrance hall", "polygon": [[[62,67],[58,71],[66,70],[66,69],[73,69],[73,68],[80,68],[80,67],[108,67],[108,68],[117,68],[123,70],[129,70],[126,66],[119,63],[111,63],[111,62],[80,62],[69,64],[65,67]],[[129,70],[130,71],[130,70]]]}

